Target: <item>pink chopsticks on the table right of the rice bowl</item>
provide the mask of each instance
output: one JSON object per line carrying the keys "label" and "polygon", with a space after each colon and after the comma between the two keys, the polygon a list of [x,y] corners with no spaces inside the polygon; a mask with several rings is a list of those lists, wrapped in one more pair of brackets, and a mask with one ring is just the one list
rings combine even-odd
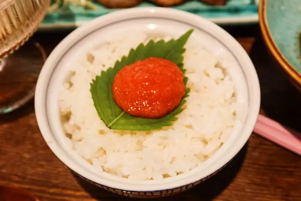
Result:
{"label": "pink chopsticks on the table right of the rice bowl", "polygon": [[285,128],[278,122],[259,115],[254,132],[258,135],[301,155],[301,134]]}

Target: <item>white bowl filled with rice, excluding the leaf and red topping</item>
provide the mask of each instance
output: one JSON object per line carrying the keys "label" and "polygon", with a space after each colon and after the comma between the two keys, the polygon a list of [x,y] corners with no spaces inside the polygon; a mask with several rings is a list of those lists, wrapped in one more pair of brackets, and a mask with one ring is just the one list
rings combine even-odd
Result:
{"label": "white bowl filled with rice, excluding the leaf and red topping", "polygon": [[[149,43],[172,44],[192,29],[181,55],[190,92],[171,124],[107,125],[103,105],[96,107],[95,77],[104,79],[133,49],[138,55]],[[176,46],[169,51],[176,54]],[[48,57],[35,96],[38,125],[54,154],[81,178],[130,197],[175,194],[215,175],[249,139],[259,106],[255,68],[231,35],[196,15],[151,7],[116,11],[73,31]]]}

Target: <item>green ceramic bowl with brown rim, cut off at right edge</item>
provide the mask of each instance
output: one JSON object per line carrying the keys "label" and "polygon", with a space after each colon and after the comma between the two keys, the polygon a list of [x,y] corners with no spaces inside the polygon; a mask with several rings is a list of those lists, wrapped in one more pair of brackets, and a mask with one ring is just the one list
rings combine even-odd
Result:
{"label": "green ceramic bowl with brown rim, cut off at right edge", "polygon": [[259,22],[270,52],[301,91],[301,0],[261,0]]}

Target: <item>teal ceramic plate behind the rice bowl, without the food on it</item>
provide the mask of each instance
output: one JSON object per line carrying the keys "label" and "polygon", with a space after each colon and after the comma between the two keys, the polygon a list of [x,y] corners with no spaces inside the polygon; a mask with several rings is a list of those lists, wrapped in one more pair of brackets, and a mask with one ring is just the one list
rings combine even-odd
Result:
{"label": "teal ceramic plate behind the rice bowl, without the food on it", "polygon": [[[259,0],[229,0],[225,6],[208,6],[197,0],[188,1],[174,9],[187,11],[212,20],[217,24],[250,24],[258,22]],[[40,30],[58,30],[75,28],[96,17],[115,11],[93,3],[96,10],[84,10],[82,7],[69,6],[64,12],[49,13],[40,26]],[[138,7],[151,7],[154,4],[142,3]]]}

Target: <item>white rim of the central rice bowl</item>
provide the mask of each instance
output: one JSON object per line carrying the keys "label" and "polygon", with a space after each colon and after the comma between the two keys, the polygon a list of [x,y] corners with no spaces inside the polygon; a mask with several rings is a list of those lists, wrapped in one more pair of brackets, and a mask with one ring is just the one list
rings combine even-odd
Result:
{"label": "white rim of the central rice bowl", "polygon": [[[85,171],[81,167],[74,167],[74,163],[75,163],[74,160],[72,160],[70,158],[70,156],[63,153],[64,151],[62,150],[62,147],[60,147],[58,145],[58,143],[53,143],[53,142],[49,141],[49,140],[51,140],[51,135],[53,135],[53,132],[51,131],[51,125],[47,124],[48,123],[47,122],[47,114],[46,114],[46,111],[44,111],[45,110],[44,107],[46,107],[46,105],[43,103],[43,97],[44,97],[44,94],[46,94],[46,91],[44,89],[47,88],[49,81],[50,81],[50,79],[49,79],[50,72],[49,71],[51,69],[54,69],[56,66],[56,65],[53,65],[52,62],[56,61],[56,57],[61,57],[60,56],[61,52],[65,52],[66,51],[65,49],[68,47],[68,45],[70,43],[71,44],[74,43],[72,41],[79,38],[78,35],[86,33],[87,30],[92,29],[93,26],[100,24],[104,20],[113,19],[117,16],[122,16],[123,18],[128,19],[128,16],[141,15],[141,14],[144,15],[144,13],[147,13],[147,15],[152,16],[152,17],[156,17],[156,15],[159,15],[160,17],[161,17],[161,15],[164,15],[164,16],[171,15],[171,16],[174,16],[174,18],[181,18],[181,19],[184,18],[185,19],[184,21],[186,21],[186,22],[189,20],[192,20],[194,23],[198,24],[198,26],[201,26],[201,25],[208,26],[211,29],[213,29],[214,31],[219,32],[220,35],[223,36],[225,41],[227,41],[226,42],[227,47],[230,48],[230,50],[232,50],[233,52],[235,52],[234,55],[239,53],[239,61],[241,63],[244,63],[247,66],[246,67],[246,69],[248,71],[248,74],[247,74],[248,79],[247,80],[252,84],[252,88],[250,88],[248,91],[249,95],[250,95],[250,93],[252,93],[252,97],[249,96],[249,102],[252,103],[252,105],[251,105],[252,110],[248,111],[247,120],[244,124],[243,130],[241,130],[241,137],[239,138],[239,140],[237,140],[237,142],[235,142],[235,147],[230,149],[226,155],[223,155],[221,160],[216,162],[218,164],[215,164],[215,166],[210,168],[210,170],[204,171],[205,173],[203,173],[204,175],[202,175],[202,177],[197,177],[197,178],[194,177],[193,179],[189,180],[189,182],[185,181],[185,179],[182,179],[181,181],[177,181],[172,184],[169,183],[168,187],[166,187],[167,184],[165,185],[165,187],[158,187],[157,185],[154,185],[154,184],[148,184],[145,187],[145,185],[143,185],[143,186],[139,186],[138,184],[125,185],[122,183],[118,183],[118,182],[111,181],[111,180],[105,180],[105,179],[102,179],[101,181],[99,181],[99,179],[97,180],[93,177],[93,174],[91,173],[91,171]],[[39,76],[39,79],[38,79],[38,83],[37,83],[37,87],[36,87],[36,96],[35,96],[35,111],[36,111],[36,118],[37,118],[37,122],[38,122],[38,125],[40,128],[40,131],[41,131],[46,143],[50,147],[50,149],[67,167],[69,167],[72,171],[76,172],[77,174],[81,175],[82,177],[85,177],[86,179],[88,179],[92,182],[99,183],[101,185],[105,185],[105,186],[115,188],[118,190],[129,190],[129,191],[138,191],[138,192],[141,192],[141,191],[154,192],[154,191],[162,191],[162,190],[166,190],[166,189],[178,188],[181,186],[185,186],[185,185],[197,182],[203,178],[206,178],[209,175],[212,175],[213,173],[215,173],[216,171],[221,169],[224,165],[226,165],[229,161],[231,161],[231,159],[241,150],[241,148],[245,145],[245,143],[249,139],[249,137],[253,131],[253,128],[255,126],[258,114],[259,114],[259,107],[260,107],[260,87],[259,87],[259,80],[258,80],[256,70],[254,68],[254,65],[253,65],[251,59],[249,58],[248,54],[246,53],[246,51],[243,49],[243,47],[229,33],[227,33],[225,30],[223,30],[216,24],[214,24],[214,23],[210,22],[209,20],[206,20],[202,17],[196,16],[196,15],[193,15],[193,14],[190,14],[187,12],[174,10],[174,9],[153,8],[153,7],[133,8],[133,9],[116,11],[111,14],[101,16],[101,17],[91,21],[90,23],[81,26],[80,28],[78,28],[77,30],[75,30],[71,34],[69,34],[52,51],[52,53],[48,57],[45,65],[43,66],[42,71]],[[192,176],[190,176],[190,177],[192,177]],[[120,186],[122,186],[122,187],[120,187]]]}

